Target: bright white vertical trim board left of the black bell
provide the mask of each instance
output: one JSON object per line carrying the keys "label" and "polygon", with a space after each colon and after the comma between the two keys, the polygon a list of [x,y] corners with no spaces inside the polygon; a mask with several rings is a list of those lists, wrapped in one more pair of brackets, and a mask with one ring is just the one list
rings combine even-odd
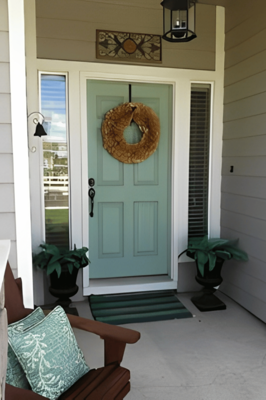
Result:
{"label": "bright white vertical trim board left of the black bell", "polygon": [[23,0],[8,0],[8,24],[17,273],[33,308]]}

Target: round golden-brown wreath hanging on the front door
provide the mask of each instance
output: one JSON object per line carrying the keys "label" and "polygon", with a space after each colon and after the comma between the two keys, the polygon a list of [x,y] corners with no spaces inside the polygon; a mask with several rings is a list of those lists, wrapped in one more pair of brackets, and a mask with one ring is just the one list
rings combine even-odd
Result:
{"label": "round golden-brown wreath hanging on the front door", "polygon": [[[143,135],[139,143],[129,144],[124,138],[125,128],[134,120]],[[103,147],[116,159],[127,164],[144,161],[157,148],[160,121],[156,113],[142,103],[124,103],[105,114],[102,123]]]}

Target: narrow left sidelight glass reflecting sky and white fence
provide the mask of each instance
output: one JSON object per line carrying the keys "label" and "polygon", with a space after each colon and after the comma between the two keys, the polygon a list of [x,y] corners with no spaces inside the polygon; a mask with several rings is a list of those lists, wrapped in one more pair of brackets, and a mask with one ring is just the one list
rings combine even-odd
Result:
{"label": "narrow left sidelight glass reflecting sky and white fence", "polygon": [[41,74],[45,242],[69,248],[65,75]]}

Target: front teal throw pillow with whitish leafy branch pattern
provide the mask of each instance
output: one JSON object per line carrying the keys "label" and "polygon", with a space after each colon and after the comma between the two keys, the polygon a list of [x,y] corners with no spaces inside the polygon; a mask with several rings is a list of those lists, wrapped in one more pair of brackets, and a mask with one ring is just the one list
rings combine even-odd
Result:
{"label": "front teal throw pillow with whitish leafy branch pattern", "polygon": [[14,350],[32,390],[55,400],[89,371],[62,307],[24,331],[9,331]]}

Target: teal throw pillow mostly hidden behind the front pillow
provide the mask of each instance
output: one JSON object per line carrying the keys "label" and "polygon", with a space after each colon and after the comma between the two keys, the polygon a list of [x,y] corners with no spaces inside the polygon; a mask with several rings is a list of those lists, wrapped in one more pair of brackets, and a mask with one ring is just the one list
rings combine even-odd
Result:
{"label": "teal throw pillow mostly hidden behind the front pillow", "polygon": [[[40,307],[36,308],[31,314],[17,322],[11,323],[8,326],[8,331],[15,330],[22,332],[31,325],[44,318],[44,313]],[[12,386],[20,387],[22,389],[30,389],[30,385],[26,378],[25,372],[20,365],[17,356],[15,355],[12,347],[8,344],[7,349],[7,367],[6,367],[6,383]]]}

